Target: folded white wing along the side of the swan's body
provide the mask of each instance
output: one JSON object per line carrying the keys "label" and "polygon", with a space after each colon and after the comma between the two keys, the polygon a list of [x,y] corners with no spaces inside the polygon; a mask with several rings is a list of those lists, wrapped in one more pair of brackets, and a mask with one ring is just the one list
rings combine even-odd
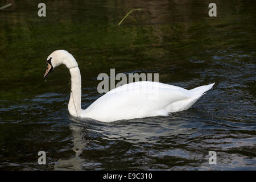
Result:
{"label": "folded white wing along the side of the swan's body", "polygon": [[141,85],[140,88],[138,85],[127,86],[114,91],[106,93],[93,102],[86,109],[86,114],[101,121],[102,119],[119,118],[120,115],[123,119],[148,117],[176,101],[191,97],[191,92],[188,90],[162,88],[155,84]]}

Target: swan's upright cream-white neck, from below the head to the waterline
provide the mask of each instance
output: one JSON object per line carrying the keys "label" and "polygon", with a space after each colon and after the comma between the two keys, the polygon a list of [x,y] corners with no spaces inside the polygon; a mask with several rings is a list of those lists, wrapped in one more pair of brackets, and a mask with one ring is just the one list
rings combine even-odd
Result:
{"label": "swan's upright cream-white neck, from below the head to the waterline", "polygon": [[79,117],[81,109],[81,74],[79,67],[69,69],[71,74],[71,93],[68,102],[68,111],[71,115]]}

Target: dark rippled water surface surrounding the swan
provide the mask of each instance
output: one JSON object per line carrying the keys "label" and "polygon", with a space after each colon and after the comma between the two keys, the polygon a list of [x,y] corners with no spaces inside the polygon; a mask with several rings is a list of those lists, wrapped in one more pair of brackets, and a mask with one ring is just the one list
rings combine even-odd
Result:
{"label": "dark rippled water surface surrounding the swan", "polygon": [[[256,169],[254,1],[214,1],[216,18],[210,1],[44,1],[45,18],[39,1],[12,2],[0,10],[0,169]],[[135,8],[137,22],[115,27]],[[43,79],[56,49],[79,63],[83,109],[110,68],[187,89],[216,85],[169,117],[81,121],[68,113],[68,69]],[[37,163],[41,150],[47,165]]]}

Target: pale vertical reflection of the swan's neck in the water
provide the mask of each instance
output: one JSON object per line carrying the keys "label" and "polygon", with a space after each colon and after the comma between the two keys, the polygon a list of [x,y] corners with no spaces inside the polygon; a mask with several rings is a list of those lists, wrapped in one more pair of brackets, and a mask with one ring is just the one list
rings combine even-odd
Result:
{"label": "pale vertical reflection of the swan's neck in the water", "polygon": [[[71,120],[73,120],[73,118],[71,118]],[[73,156],[71,159],[57,160],[57,163],[55,163],[54,166],[54,170],[82,170],[82,164],[85,163],[85,160],[80,158],[80,155],[86,146],[86,141],[83,140],[84,133],[82,132],[82,126],[70,123],[69,128],[72,132],[72,141],[74,143],[72,150],[75,151],[75,156]]]}

